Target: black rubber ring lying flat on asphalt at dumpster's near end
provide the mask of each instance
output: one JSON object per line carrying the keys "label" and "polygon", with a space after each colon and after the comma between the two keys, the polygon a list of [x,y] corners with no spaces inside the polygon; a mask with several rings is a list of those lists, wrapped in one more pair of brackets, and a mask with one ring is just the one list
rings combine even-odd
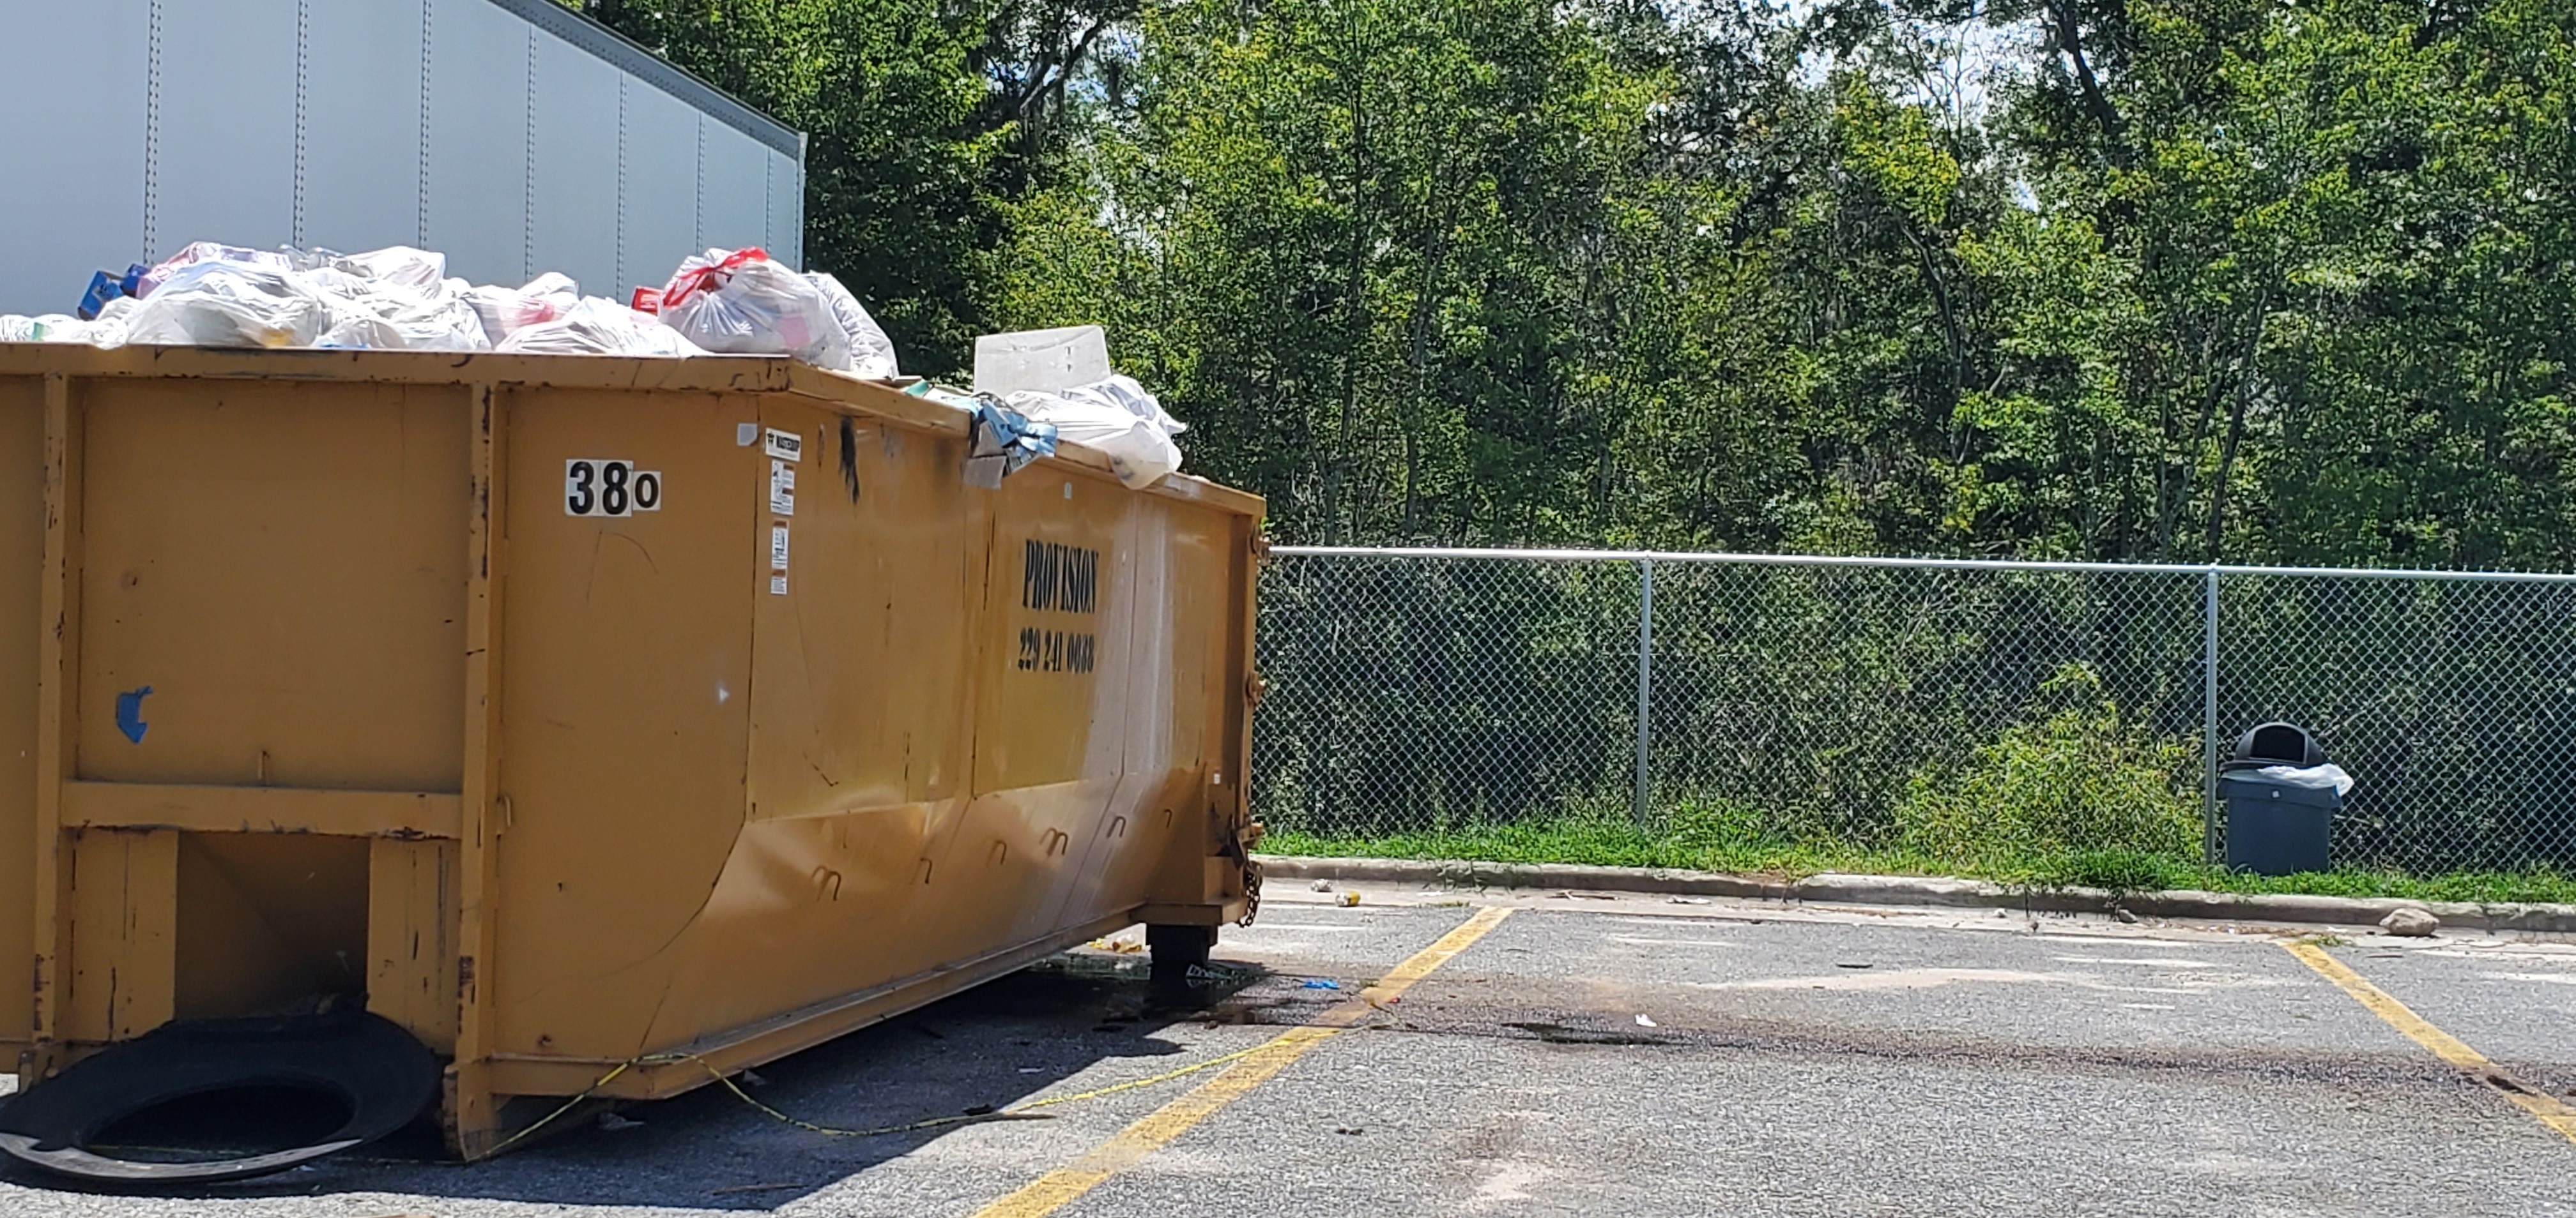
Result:
{"label": "black rubber ring lying flat on asphalt at dumpster's near end", "polygon": [[[118,1123],[178,1100],[312,1092],[345,1107],[330,1133],[283,1151],[183,1161],[95,1146]],[[108,1045],[0,1107],[0,1151],[54,1174],[126,1185],[204,1185],[283,1172],[410,1125],[438,1097],[438,1058],[361,1009],[263,1020],[185,1020]],[[222,1151],[216,1151],[222,1154]]]}

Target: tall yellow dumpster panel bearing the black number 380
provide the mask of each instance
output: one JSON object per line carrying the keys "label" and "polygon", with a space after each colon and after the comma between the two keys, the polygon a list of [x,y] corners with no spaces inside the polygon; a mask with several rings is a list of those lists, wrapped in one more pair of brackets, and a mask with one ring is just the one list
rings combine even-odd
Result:
{"label": "tall yellow dumpster panel bearing the black number 380", "polygon": [[[505,417],[495,1048],[623,1061],[744,824],[757,404],[551,389]],[[569,461],[657,471],[659,507],[572,515]]]}

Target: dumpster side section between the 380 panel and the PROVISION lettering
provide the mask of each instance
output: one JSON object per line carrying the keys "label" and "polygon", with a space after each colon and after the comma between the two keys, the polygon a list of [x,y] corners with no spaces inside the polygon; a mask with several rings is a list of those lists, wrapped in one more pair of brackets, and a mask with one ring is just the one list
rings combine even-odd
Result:
{"label": "dumpster side section between the 380 panel and the PROVISION lettering", "polygon": [[[744,585],[752,824],[672,945],[683,966],[654,1048],[989,948],[914,919],[925,845],[953,824],[971,760],[963,623],[981,567],[953,476],[963,443],[801,399],[760,412],[762,445],[739,471],[760,507],[744,538],[760,556]],[[770,433],[799,453],[773,456]]]}

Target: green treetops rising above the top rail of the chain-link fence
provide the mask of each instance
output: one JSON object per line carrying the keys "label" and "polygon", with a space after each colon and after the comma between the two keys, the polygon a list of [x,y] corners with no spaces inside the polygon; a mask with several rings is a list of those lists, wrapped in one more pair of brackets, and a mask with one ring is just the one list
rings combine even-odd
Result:
{"label": "green treetops rising above the top rail of the chain-link fence", "polygon": [[1293,541],[2566,567],[2568,0],[592,0]]}

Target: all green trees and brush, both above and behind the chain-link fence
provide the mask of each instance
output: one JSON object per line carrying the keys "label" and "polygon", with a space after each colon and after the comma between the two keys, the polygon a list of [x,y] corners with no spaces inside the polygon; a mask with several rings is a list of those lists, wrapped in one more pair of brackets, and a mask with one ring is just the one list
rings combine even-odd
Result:
{"label": "all green trees and brush, both above and behind the chain-link fence", "polygon": [[[1280,541],[2576,564],[2576,0],[582,8],[811,131],[907,371],[1100,322]],[[1577,564],[1275,567],[1257,811],[2221,883],[2197,582],[1664,579],[1646,827]],[[2223,736],[2354,762],[2336,857],[2576,863],[2576,592],[2264,579]]]}

